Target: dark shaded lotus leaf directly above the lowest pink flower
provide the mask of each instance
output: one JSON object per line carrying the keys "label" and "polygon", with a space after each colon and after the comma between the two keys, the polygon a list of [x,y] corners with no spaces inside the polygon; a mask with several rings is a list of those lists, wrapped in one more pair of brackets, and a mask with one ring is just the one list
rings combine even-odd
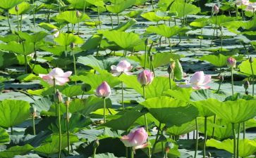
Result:
{"label": "dark shaded lotus leaf directly above the lowest pink flower", "polygon": [[[145,114],[145,112],[142,112],[142,108],[142,106],[137,106],[131,110],[118,112],[110,121],[107,121],[106,124],[102,124],[102,126],[107,126],[114,130],[119,129],[127,131],[136,119]],[[106,119],[108,119],[108,117]]]}

